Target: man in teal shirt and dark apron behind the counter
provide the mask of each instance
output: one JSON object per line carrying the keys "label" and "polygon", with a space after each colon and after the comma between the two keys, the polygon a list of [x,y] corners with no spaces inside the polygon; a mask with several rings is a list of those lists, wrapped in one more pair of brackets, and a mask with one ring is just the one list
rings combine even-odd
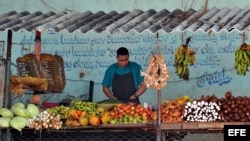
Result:
{"label": "man in teal shirt and dark apron behind the counter", "polygon": [[139,96],[147,89],[144,77],[141,76],[141,66],[129,61],[129,52],[125,47],[117,50],[117,63],[108,67],[102,81],[103,92],[110,99],[124,103],[139,104]]}

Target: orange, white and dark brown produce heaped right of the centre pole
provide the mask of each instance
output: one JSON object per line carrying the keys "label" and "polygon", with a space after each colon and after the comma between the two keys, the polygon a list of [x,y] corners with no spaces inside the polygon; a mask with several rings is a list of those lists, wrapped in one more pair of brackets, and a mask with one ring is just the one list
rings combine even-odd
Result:
{"label": "orange, white and dark brown produce heaped right of the centre pole", "polygon": [[223,98],[213,94],[192,101],[188,96],[163,100],[161,122],[249,122],[249,104],[250,97],[236,97],[230,91]]}

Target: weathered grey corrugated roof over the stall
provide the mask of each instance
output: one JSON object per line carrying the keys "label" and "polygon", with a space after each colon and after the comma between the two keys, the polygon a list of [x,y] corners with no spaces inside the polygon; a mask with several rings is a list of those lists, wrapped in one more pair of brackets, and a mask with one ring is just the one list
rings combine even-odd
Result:
{"label": "weathered grey corrugated roof over the stall", "polygon": [[231,31],[237,29],[244,31],[249,27],[250,8],[234,7],[218,9],[216,7],[211,9],[200,8],[199,10],[189,9],[182,11],[176,9],[168,11],[163,9],[155,11],[153,9],[142,11],[124,11],[118,13],[111,11],[105,13],[99,11],[92,13],[85,12],[61,12],[55,13],[49,11],[42,13],[40,11],[30,13],[23,11],[17,13],[10,11],[0,15],[0,31],[11,29],[13,31],[19,30],[54,30],[59,32],[66,30],[69,33],[80,31],[87,33],[95,31],[101,33],[107,31],[114,33],[116,31],[128,32],[135,30],[143,32],[148,30],[150,32],[157,32],[164,30],[166,32],[202,30],[207,32],[213,30],[218,32],[220,30]]}

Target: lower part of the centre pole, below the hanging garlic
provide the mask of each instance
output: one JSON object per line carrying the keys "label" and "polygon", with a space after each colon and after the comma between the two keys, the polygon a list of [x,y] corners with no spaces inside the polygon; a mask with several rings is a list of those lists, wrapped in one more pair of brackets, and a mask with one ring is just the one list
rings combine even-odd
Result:
{"label": "lower part of the centre pole, below the hanging garlic", "polygon": [[161,91],[157,90],[157,96],[158,96],[158,118],[157,118],[157,141],[161,141]]}

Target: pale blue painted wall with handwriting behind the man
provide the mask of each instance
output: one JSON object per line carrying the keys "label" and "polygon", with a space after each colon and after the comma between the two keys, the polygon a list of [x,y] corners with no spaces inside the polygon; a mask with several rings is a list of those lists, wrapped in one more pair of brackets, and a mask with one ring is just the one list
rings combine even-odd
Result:
{"label": "pale blue painted wall with handwriting behind the man", "polygon": [[[249,32],[246,31],[246,35]],[[161,90],[162,99],[174,99],[183,95],[200,98],[201,95],[216,94],[223,97],[226,91],[234,95],[249,95],[248,80],[246,76],[237,75],[234,66],[234,53],[238,45],[243,42],[242,33],[234,30],[230,33],[204,33],[202,31],[190,32],[159,32],[159,45],[164,55],[165,63],[170,72],[168,85]],[[5,37],[6,36],[6,37]],[[190,66],[190,80],[179,79],[173,67],[174,52],[187,37],[192,37],[190,47],[196,51],[197,62]],[[7,34],[0,34],[0,40],[5,40]],[[67,78],[65,95],[79,96],[88,92],[88,81],[95,82],[94,101],[105,99],[102,92],[101,81],[106,68],[116,61],[116,49],[120,46],[128,47],[130,59],[142,65],[146,70],[151,52],[157,48],[156,34],[151,32],[115,33],[109,34],[89,32],[82,34],[75,32],[42,33],[42,52],[61,55],[65,63]],[[249,40],[245,41],[246,43]],[[23,46],[21,44],[23,44]],[[34,49],[34,33],[14,32],[12,45],[12,62]],[[16,68],[12,66],[12,73]],[[80,78],[80,73],[85,76]],[[157,103],[157,91],[149,88],[141,97],[142,101]]]}

